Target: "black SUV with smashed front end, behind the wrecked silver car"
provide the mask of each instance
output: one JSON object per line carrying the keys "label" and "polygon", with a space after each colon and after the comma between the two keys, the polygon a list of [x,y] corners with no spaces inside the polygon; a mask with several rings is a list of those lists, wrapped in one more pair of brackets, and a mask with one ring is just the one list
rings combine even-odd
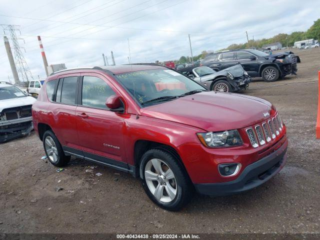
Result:
{"label": "black SUV with smashed front end, behind the wrecked silver car", "polygon": [[264,81],[275,81],[288,74],[295,74],[300,58],[291,51],[267,54],[256,49],[216,52],[206,55],[200,65],[215,71],[241,64],[250,77],[261,76]]}

